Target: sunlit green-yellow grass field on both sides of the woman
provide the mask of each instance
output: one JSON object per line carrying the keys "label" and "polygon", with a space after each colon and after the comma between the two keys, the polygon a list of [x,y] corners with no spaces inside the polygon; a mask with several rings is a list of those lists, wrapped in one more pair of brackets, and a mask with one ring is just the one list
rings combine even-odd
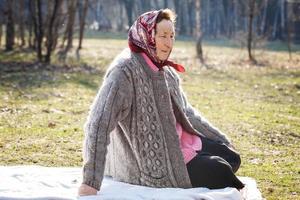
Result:
{"label": "sunlit green-yellow grass field on both sides of the woman", "polygon": [[[89,106],[126,44],[87,39],[80,61],[68,57],[71,68],[55,57],[57,67],[21,68],[9,61],[32,61],[32,52],[1,53],[0,165],[81,166]],[[191,41],[178,41],[172,53],[187,68],[181,77],[189,101],[232,138],[242,157],[238,175],[255,178],[269,200],[300,199],[299,52],[289,61],[284,51],[257,50],[259,65],[251,66],[239,48],[205,42],[203,49],[211,69],[200,67]]]}

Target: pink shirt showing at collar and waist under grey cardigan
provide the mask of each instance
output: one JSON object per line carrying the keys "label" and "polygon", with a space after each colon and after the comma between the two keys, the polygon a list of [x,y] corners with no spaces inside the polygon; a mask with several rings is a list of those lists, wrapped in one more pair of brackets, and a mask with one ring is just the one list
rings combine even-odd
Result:
{"label": "pink shirt showing at collar and waist under grey cardigan", "polygon": [[[147,62],[148,66],[153,71],[159,70],[145,53],[141,54]],[[202,149],[202,142],[200,137],[185,131],[182,128],[181,124],[178,122],[176,122],[176,131],[179,137],[180,148],[183,154],[184,162],[185,164],[187,164],[197,155],[196,151],[200,151]]]}

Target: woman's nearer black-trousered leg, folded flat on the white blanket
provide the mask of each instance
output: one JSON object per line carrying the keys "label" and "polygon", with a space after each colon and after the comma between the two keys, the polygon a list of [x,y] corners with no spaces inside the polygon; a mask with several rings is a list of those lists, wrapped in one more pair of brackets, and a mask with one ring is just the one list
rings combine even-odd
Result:
{"label": "woman's nearer black-trousered leg, folded flat on the white blanket", "polygon": [[234,175],[231,165],[219,156],[199,153],[187,164],[187,170],[193,187],[210,189],[244,187],[244,184]]}

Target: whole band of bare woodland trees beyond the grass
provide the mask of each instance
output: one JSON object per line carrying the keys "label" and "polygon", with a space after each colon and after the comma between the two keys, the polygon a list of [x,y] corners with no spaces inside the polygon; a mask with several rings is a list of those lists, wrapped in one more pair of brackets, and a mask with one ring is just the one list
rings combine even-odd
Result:
{"label": "whole band of bare woodland trees beyond the grass", "polygon": [[[61,6],[56,10],[57,3]],[[5,37],[7,50],[13,49],[15,41],[21,41],[21,46],[26,42],[35,48],[40,61],[46,61],[57,46],[59,34],[62,34],[61,52],[67,52],[72,47],[75,27],[79,27],[79,50],[86,23],[97,21],[101,31],[123,31],[142,12],[169,7],[178,15],[177,33],[197,37],[200,60],[204,61],[201,45],[204,37],[225,36],[242,38],[249,60],[255,62],[255,45],[264,44],[260,41],[267,39],[285,40],[291,52],[292,43],[300,40],[300,20],[292,19],[295,16],[290,14],[299,13],[299,4],[298,0],[0,0],[0,45],[1,37]],[[5,29],[2,30],[1,24]]]}

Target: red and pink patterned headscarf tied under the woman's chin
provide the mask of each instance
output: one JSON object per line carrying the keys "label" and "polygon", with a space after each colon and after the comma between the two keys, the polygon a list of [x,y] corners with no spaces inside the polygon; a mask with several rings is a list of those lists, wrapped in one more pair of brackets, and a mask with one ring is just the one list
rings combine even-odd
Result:
{"label": "red and pink patterned headscarf tied under the woman's chin", "polygon": [[169,60],[161,61],[156,55],[155,29],[156,19],[162,10],[150,11],[142,14],[133,23],[128,33],[128,45],[131,51],[144,52],[158,67],[169,65],[179,72],[184,72],[182,65],[173,63]]}

